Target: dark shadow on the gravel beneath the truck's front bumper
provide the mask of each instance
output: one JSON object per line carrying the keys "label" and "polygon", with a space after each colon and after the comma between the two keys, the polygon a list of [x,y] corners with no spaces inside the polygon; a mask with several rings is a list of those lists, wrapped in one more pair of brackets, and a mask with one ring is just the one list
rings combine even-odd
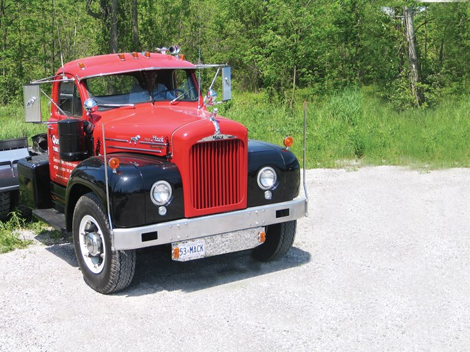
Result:
{"label": "dark shadow on the gravel beneath the truck's front bumper", "polygon": [[131,286],[116,295],[143,296],[160,291],[195,292],[279,272],[310,261],[310,253],[295,247],[283,258],[269,263],[255,261],[250,250],[187,262],[172,261],[169,253],[169,247],[139,250]]}

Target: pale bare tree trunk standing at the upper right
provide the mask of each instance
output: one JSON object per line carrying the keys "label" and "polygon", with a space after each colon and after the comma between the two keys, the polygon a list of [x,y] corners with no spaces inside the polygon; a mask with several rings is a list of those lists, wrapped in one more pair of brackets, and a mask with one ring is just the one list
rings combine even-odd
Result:
{"label": "pale bare tree trunk standing at the upper right", "polygon": [[412,89],[412,95],[416,104],[423,104],[423,94],[418,87],[420,82],[418,71],[418,54],[416,53],[416,36],[414,35],[413,12],[411,7],[403,8],[403,17],[405,19],[405,34],[408,43],[408,63],[409,63],[409,84]]}

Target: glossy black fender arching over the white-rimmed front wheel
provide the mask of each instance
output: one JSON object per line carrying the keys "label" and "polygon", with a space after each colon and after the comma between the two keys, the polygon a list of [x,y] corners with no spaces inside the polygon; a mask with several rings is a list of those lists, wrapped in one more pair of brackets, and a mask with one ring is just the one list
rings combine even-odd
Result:
{"label": "glossy black fender arching over the white-rimmed front wheel", "polygon": [[[184,217],[182,180],[175,164],[160,157],[134,153],[114,153],[108,155],[108,160],[111,157],[117,157],[120,162],[116,173],[107,166],[109,207],[114,228],[132,228]],[[158,214],[158,206],[150,198],[151,187],[158,180],[167,181],[173,188],[164,216]],[[105,184],[102,155],[90,157],[74,168],[67,184],[67,231],[72,230],[74,207],[83,194],[94,192],[107,209]]]}

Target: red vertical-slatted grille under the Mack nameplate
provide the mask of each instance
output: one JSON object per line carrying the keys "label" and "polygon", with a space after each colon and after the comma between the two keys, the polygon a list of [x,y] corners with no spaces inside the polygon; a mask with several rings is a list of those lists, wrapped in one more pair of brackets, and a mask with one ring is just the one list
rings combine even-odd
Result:
{"label": "red vertical-slatted grille under the Mack nameplate", "polygon": [[191,201],[197,210],[229,206],[242,199],[239,140],[194,144],[191,148]]}

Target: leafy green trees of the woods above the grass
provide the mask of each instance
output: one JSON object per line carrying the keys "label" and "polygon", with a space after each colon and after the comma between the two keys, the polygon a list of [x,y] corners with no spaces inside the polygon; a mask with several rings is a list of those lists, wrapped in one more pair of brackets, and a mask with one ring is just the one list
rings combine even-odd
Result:
{"label": "leafy green trees of the woods above the grass", "polygon": [[[405,5],[414,7],[423,107],[470,94],[464,2],[118,0],[118,51],[179,44],[190,61],[232,65],[237,89],[268,92],[273,102],[373,85],[396,109],[411,109]],[[20,101],[23,83],[52,76],[61,53],[70,61],[109,52],[111,10],[111,0],[2,0],[0,103]]]}

